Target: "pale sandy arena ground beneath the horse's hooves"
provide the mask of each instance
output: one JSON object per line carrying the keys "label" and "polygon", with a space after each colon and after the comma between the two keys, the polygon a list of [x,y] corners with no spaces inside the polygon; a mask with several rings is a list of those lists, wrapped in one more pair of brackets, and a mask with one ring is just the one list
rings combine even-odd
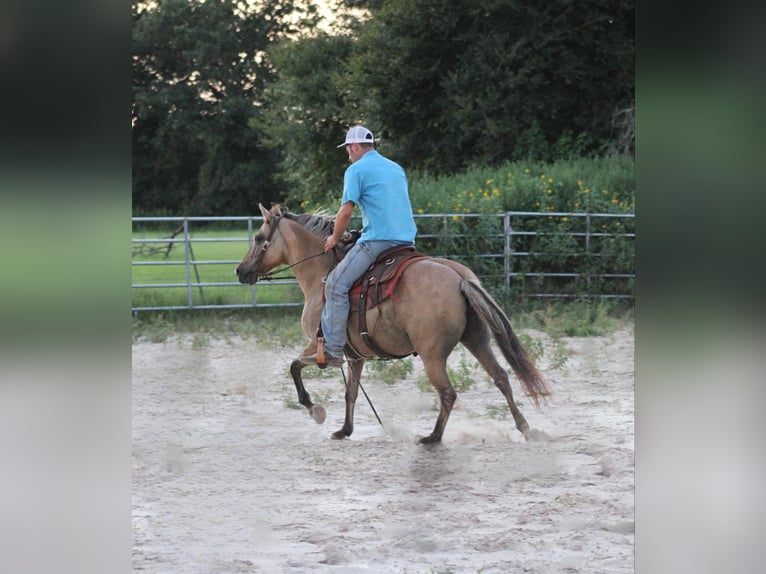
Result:
{"label": "pale sandy arena ground beneath the horse's hooves", "polygon": [[[564,339],[554,395],[537,411],[511,385],[527,443],[486,374],[459,393],[443,443],[415,444],[436,420],[433,391],[362,380],[355,431],[340,371],[306,377],[327,409],[292,408],[300,347],[191,338],[133,345],[133,569],[157,574],[633,572],[632,325]],[[458,368],[474,359],[461,346]],[[317,371],[318,372],[318,371]]]}

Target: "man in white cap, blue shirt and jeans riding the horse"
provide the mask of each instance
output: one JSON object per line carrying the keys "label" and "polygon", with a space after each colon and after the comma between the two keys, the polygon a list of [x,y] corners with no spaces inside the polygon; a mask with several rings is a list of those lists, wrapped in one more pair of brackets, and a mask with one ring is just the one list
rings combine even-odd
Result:
{"label": "man in white cap, blue shirt and jeans riding the horse", "polygon": [[[363,126],[354,126],[338,147],[346,148],[351,165],[343,177],[343,197],[335,216],[335,229],[325,241],[324,250],[327,252],[338,244],[355,205],[362,212],[362,234],[327,276],[322,332],[325,360],[332,366],[343,364],[348,292],[354,282],[386,249],[414,245],[417,231],[404,169],[375,150],[372,132]],[[316,354],[302,359],[307,363],[316,362]]]}

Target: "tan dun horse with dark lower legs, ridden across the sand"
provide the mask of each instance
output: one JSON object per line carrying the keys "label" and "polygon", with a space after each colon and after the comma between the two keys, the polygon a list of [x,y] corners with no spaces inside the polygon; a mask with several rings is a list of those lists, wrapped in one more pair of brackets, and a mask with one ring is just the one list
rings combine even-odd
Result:
{"label": "tan dun horse with dark lower legs, ridden across the sand", "polygon": [[[292,269],[304,295],[301,326],[309,339],[301,356],[312,355],[317,352],[317,330],[324,304],[323,278],[331,271],[337,257],[335,250],[324,251],[325,239],[332,234],[335,218],[323,214],[295,214],[280,205],[273,205],[269,210],[262,204],[258,207],[263,215],[263,225],[236,268],[237,277],[242,284],[254,285],[280,266]],[[346,353],[349,376],[345,420],[332,434],[335,439],[351,436],[354,431],[354,405],[362,368],[365,360],[379,358],[354,328],[359,312],[352,305]],[[402,272],[393,296],[367,310],[367,325],[377,343],[375,347],[389,357],[420,356],[428,380],[438,393],[440,408],[436,424],[431,434],[421,437],[418,443],[442,440],[457,398],[447,372],[447,357],[458,343],[476,357],[505,396],[516,428],[525,439],[543,438],[544,433],[530,429],[516,405],[508,373],[498,363],[490,346],[491,335],[538,409],[540,399],[550,394],[549,387],[514,333],[505,312],[468,267],[437,257],[423,257],[412,262]],[[349,347],[354,352],[348,352]],[[308,363],[299,356],[290,364],[290,375],[300,404],[321,424],[326,411],[311,401],[303,385],[301,371],[306,366]]]}

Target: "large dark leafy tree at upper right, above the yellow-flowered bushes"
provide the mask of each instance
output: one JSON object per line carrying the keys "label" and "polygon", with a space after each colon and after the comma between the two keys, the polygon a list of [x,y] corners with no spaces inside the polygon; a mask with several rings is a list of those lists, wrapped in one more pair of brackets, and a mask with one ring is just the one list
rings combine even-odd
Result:
{"label": "large dark leafy tree at upper right, above the yellow-flowered bushes", "polygon": [[633,10],[632,0],[391,0],[360,29],[347,99],[415,168],[511,159],[529,129],[551,145],[584,134],[595,153],[633,101]]}

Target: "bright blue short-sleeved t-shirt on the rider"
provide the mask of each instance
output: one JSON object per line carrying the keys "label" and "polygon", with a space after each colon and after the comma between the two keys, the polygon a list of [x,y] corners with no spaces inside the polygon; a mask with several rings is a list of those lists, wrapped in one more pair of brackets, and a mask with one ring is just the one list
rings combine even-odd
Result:
{"label": "bright blue short-sleeved t-shirt on the rider", "polygon": [[414,243],[417,228],[407,176],[396,162],[370,150],[346,169],[341,205],[353,201],[362,212],[364,241]]}

